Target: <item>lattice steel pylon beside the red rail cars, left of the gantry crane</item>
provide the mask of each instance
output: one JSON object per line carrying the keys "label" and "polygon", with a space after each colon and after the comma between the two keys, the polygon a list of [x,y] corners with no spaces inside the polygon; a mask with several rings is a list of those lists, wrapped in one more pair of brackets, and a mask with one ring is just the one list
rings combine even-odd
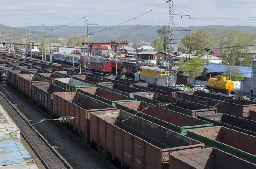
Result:
{"label": "lattice steel pylon beside the red rail cars, left of the gantry crane", "polygon": [[90,43],[89,43],[88,17],[84,17],[84,69],[90,70]]}

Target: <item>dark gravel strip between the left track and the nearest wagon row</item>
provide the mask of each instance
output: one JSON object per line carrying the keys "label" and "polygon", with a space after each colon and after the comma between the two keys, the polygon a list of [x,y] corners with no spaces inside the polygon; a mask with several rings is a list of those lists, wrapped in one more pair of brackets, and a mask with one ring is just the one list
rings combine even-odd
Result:
{"label": "dark gravel strip between the left track and the nearest wagon row", "polygon": [[[43,110],[32,104],[28,99],[21,96],[14,89],[6,88],[6,90],[9,92],[9,95],[27,119],[41,120],[42,117],[40,117],[40,115],[47,118],[48,115]],[[38,115],[36,113],[38,113]],[[48,116],[48,119],[51,118]],[[36,123],[38,121],[32,121],[31,123],[33,122]],[[75,143],[74,140],[71,140],[53,123],[57,122],[45,120],[44,122],[35,124],[34,127],[74,169],[104,169],[100,160],[91,158],[86,150],[79,146],[79,143]]]}

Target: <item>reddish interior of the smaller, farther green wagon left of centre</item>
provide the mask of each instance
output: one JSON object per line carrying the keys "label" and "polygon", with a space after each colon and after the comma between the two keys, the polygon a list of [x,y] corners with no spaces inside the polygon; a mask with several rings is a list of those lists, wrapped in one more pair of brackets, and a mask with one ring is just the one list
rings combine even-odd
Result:
{"label": "reddish interior of the smaller, farther green wagon left of centre", "polygon": [[134,100],[131,97],[120,95],[115,92],[111,92],[105,89],[101,89],[99,87],[90,87],[90,88],[81,88],[82,91],[91,93],[93,95],[97,95],[99,97],[103,97],[105,99],[111,100],[111,101],[121,101],[121,100]]}

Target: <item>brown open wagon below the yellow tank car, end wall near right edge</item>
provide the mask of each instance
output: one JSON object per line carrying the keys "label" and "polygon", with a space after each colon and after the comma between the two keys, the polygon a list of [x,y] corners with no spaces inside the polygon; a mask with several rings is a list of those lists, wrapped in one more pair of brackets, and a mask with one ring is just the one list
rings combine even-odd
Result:
{"label": "brown open wagon below the yellow tank car, end wall near right edge", "polygon": [[[177,92],[177,98],[198,102],[207,106],[215,106],[221,101],[225,100],[216,106],[218,113],[227,113],[229,115],[237,117],[249,117],[251,109],[256,109],[256,103],[253,101],[231,100],[232,97],[226,97],[221,95],[214,95],[210,93],[188,91],[188,92]],[[215,101],[214,101],[215,100]]]}

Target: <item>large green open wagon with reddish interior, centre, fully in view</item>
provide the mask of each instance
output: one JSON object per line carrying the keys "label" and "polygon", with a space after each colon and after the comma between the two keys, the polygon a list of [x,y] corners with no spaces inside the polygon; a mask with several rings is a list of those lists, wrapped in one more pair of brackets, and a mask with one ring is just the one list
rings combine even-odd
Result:
{"label": "large green open wagon with reddish interior, centre, fully in view", "polygon": [[207,121],[199,120],[169,109],[157,108],[155,105],[143,101],[116,103],[116,107],[117,109],[137,115],[182,135],[186,135],[188,129],[212,127],[212,123]]}

